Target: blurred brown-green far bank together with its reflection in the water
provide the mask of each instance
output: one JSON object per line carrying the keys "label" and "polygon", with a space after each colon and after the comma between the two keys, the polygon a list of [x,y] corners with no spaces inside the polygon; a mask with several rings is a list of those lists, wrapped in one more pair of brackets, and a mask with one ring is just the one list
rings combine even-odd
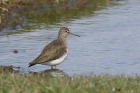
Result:
{"label": "blurred brown-green far bank together with its reflection in the water", "polygon": [[[16,30],[26,23],[44,22],[46,25],[63,18],[90,15],[113,0],[2,0],[0,2],[0,31]],[[32,19],[31,19],[32,18]],[[41,18],[41,19],[40,19]],[[45,19],[44,19],[45,18]],[[28,27],[27,27],[28,28]]]}

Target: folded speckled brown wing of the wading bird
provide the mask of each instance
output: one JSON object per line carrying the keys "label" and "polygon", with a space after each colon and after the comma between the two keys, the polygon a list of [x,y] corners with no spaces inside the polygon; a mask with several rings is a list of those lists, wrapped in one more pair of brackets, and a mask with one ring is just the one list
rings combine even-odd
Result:
{"label": "folded speckled brown wing of the wading bird", "polygon": [[29,67],[57,59],[66,52],[67,46],[60,40],[54,40],[42,50],[41,54],[35,60],[29,63]]}

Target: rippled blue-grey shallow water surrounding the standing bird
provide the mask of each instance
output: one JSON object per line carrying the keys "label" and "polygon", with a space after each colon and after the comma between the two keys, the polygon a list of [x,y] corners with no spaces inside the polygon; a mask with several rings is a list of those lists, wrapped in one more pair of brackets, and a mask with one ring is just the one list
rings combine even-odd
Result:
{"label": "rippled blue-grey shallow water surrounding the standing bird", "polygon": [[[118,1],[80,18],[63,19],[39,29],[0,36],[0,64],[19,66],[25,72],[50,66],[28,63],[66,26],[81,37],[68,36],[69,54],[57,68],[72,74],[140,75],[140,1]],[[23,29],[26,30],[26,29]],[[17,50],[18,53],[13,53]]]}

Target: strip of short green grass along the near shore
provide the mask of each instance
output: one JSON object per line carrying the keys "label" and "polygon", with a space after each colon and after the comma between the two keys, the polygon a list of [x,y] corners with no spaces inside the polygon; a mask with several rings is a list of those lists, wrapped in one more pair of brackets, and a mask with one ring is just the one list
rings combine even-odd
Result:
{"label": "strip of short green grass along the near shore", "polygon": [[0,93],[140,93],[140,77],[0,74]]}

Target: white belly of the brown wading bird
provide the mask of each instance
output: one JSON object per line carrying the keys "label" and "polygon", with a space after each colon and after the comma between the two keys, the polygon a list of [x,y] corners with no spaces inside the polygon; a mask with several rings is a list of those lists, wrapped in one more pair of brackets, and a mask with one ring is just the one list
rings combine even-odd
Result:
{"label": "white belly of the brown wading bird", "polygon": [[67,58],[67,53],[65,53],[63,56],[61,56],[59,59],[56,59],[56,60],[52,60],[50,62],[44,62],[44,63],[41,63],[42,65],[50,65],[50,66],[55,66],[55,65],[58,65],[60,63],[62,63],[66,58]]}

